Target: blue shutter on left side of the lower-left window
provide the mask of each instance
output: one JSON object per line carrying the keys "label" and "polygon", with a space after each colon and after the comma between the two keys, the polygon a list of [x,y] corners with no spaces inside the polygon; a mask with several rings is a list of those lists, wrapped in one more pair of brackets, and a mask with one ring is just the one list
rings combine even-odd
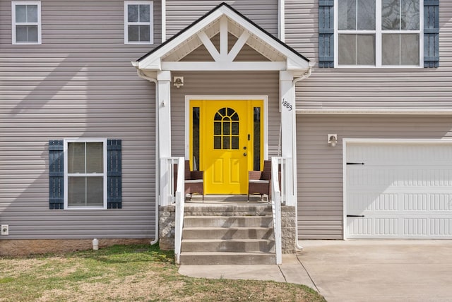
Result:
{"label": "blue shutter on left side of the lower-left window", "polygon": [[49,208],[64,208],[63,140],[49,140]]}

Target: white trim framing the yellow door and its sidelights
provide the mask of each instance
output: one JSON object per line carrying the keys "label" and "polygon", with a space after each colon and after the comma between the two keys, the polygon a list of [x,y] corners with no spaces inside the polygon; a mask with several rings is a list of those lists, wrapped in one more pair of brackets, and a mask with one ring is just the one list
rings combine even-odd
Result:
{"label": "white trim framing the yellow door and its sidelights", "polygon": [[263,101],[263,159],[268,159],[268,95],[186,95],[185,96],[185,114],[184,114],[184,145],[185,158],[190,156],[190,101],[196,100],[238,100],[238,101]]}

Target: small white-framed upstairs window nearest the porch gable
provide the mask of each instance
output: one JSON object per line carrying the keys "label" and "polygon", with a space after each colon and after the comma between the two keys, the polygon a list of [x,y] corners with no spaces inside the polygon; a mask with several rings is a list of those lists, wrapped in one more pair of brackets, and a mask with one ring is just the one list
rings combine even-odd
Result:
{"label": "small white-framed upstairs window nearest the porch gable", "polygon": [[124,1],[124,43],[153,44],[153,1]]}

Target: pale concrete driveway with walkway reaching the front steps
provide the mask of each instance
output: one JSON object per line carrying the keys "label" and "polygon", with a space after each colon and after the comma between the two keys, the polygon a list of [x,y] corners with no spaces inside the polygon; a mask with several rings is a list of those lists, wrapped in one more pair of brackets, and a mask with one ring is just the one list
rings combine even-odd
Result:
{"label": "pale concrete driveway with walkway reaching the front steps", "polygon": [[452,241],[300,241],[283,265],[181,266],[191,277],[305,284],[334,301],[452,301]]}

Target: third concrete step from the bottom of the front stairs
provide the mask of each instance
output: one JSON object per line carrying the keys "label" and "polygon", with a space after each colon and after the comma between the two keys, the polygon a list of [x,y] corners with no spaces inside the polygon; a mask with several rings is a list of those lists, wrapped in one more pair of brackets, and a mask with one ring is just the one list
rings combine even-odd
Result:
{"label": "third concrete step from the bottom of the front stairs", "polygon": [[185,227],[184,239],[274,239],[267,227]]}

